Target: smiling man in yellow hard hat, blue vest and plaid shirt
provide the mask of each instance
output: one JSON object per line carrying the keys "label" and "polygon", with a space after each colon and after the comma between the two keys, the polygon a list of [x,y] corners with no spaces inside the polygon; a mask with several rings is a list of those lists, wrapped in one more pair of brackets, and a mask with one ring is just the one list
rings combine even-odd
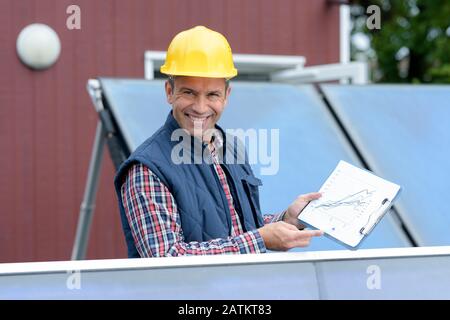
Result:
{"label": "smiling man in yellow hard hat, blue vest and plaid shirt", "polygon": [[281,214],[261,214],[261,181],[239,141],[217,125],[237,75],[225,37],[203,26],[180,32],[161,72],[172,111],[115,179],[128,256],[284,251],[322,235],[297,219],[319,193],[300,195]]}

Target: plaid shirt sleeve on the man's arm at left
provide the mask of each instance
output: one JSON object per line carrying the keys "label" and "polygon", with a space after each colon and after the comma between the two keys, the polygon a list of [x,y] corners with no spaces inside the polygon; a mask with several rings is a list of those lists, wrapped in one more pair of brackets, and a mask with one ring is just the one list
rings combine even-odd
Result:
{"label": "plaid shirt sleeve on the man's arm at left", "polygon": [[121,188],[125,213],[141,257],[265,252],[257,230],[205,242],[185,242],[177,204],[168,188],[142,164],[128,171]]}

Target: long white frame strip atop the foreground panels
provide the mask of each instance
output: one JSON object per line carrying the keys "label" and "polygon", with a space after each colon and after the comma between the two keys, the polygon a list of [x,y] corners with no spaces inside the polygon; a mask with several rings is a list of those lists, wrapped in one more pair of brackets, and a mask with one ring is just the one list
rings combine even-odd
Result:
{"label": "long white frame strip atop the foreground panels", "polygon": [[0,276],[13,274],[58,273],[67,271],[108,271],[122,269],[153,269],[245,265],[292,262],[345,261],[362,259],[450,256],[450,246],[365,249],[358,251],[311,251],[268,253],[257,255],[217,255],[177,258],[109,259],[0,264]]}

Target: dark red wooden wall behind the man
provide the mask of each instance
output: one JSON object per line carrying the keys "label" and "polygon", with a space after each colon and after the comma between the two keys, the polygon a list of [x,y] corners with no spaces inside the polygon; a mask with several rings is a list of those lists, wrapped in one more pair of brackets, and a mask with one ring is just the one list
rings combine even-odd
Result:
{"label": "dark red wooden wall behind the man", "polygon": [[[81,30],[66,28],[71,4]],[[19,32],[34,22],[62,43],[45,71],[16,54]],[[223,33],[235,53],[339,61],[339,7],[326,0],[0,0],[0,263],[70,259],[97,121],[86,81],[143,77],[144,51],[166,50],[194,25]],[[104,159],[90,259],[126,255]]]}

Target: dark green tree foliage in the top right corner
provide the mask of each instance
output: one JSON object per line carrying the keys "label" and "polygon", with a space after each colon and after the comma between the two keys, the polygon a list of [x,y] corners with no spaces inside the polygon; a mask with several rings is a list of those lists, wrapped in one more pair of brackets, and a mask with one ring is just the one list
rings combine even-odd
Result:
{"label": "dark green tree foliage in the top right corner", "polygon": [[[352,33],[363,32],[371,39],[365,54],[373,81],[450,83],[450,1],[357,0],[352,4]],[[370,5],[381,9],[379,30],[366,26]],[[358,55],[356,48],[352,55]]]}

